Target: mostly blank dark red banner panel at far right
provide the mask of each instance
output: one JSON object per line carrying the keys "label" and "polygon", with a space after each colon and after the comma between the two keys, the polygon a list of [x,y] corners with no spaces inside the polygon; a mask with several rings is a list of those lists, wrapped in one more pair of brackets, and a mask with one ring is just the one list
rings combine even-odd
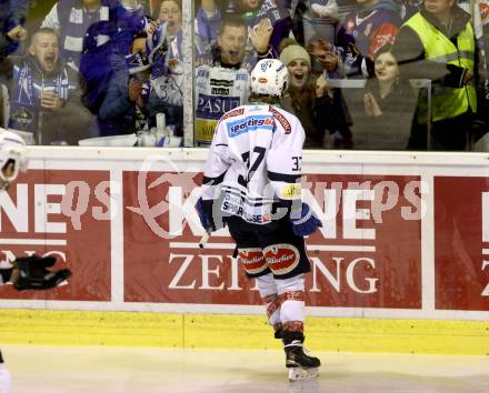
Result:
{"label": "mostly blank dark red banner panel at far right", "polygon": [[436,306],[489,311],[489,178],[435,178]]}

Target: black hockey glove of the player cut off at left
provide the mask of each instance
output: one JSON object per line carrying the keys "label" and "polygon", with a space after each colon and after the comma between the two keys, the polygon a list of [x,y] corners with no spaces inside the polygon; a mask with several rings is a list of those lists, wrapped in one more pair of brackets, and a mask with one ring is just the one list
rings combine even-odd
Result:
{"label": "black hockey glove of the player cut off at left", "polygon": [[18,258],[13,261],[13,271],[10,281],[18,291],[50,290],[71,276],[68,269],[49,270],[56,263],[54,256]]}

